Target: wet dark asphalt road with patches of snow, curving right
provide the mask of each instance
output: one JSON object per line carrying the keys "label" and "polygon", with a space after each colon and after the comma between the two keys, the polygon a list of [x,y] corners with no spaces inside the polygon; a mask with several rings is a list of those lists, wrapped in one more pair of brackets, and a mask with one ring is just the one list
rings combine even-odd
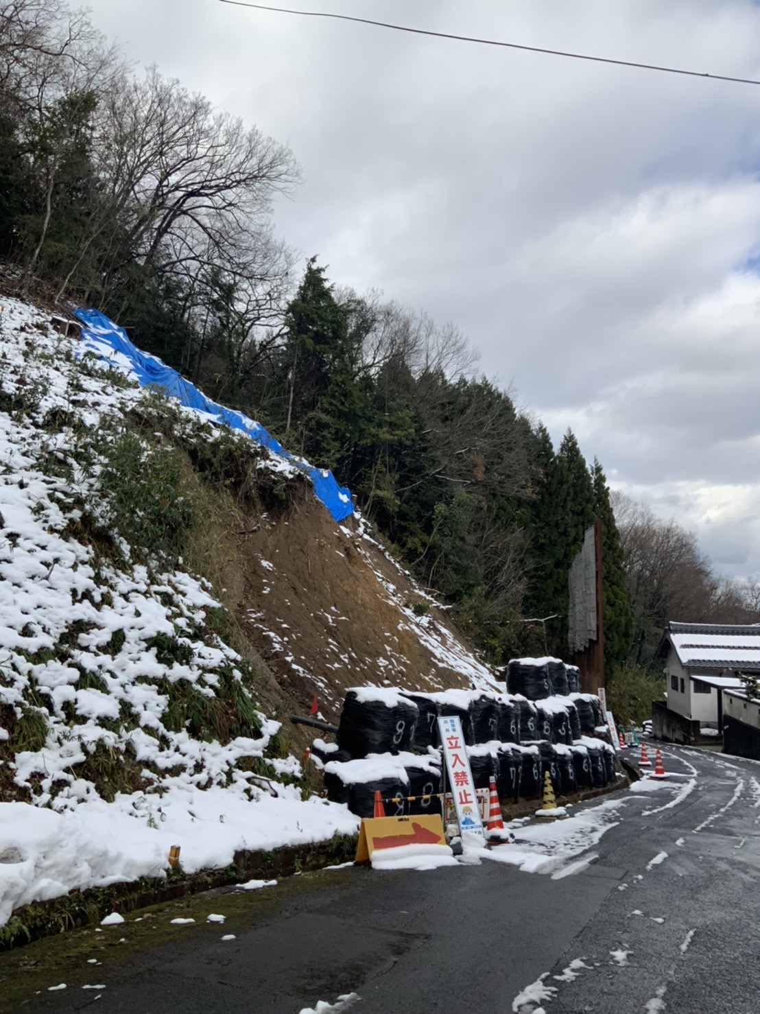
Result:
{"label": "wet dark asphalt road with patches of snow, curving right", "polygon": [[[352,867],[182,899],[23,948],[12,982],[28,989],[7,1009],[299,1014],[357,993],[352,1014],[759,1014],[760,765],[664,756],[667,788],[574,809],[602,805],[611,821],[588,865]],[[205,923],[214,912],[224,927]],[[5,1010],[2,977],[0,964]],[[58,982],[67,989],[48,992]]]}

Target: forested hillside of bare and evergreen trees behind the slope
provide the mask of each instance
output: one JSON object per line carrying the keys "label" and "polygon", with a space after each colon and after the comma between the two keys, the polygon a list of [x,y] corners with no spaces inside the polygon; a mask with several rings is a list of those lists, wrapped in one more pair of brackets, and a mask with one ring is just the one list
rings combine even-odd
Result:
{"label": "forested hillside of bare and evergreen trees behind the slope", "polygon": [[658,541],[660,522],[619,504],[616,523],[602,465],[569,431],[552,446],[479,376],[455,324],[303,264],[271,221],[298,178],[286,145],[155,68],[135,72],[62,0],[0,12],[6,292],[101,309],[332,468],[491,664],[566,654],[567,571],[597,517],[608,675],[648,666],[668,619],[757,617],[751,589],[715,579],[688,533]]}

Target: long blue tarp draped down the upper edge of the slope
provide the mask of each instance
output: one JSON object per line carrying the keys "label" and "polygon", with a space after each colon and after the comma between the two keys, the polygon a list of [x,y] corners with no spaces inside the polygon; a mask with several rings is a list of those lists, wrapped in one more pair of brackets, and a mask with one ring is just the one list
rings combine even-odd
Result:
{"label": "long blue tarp draped down the upper edge of the slope", "polygon": [[338,486],[331,472],[314,468],[306,461],[294,457],[259,423],[241,412],[225,409],[224,406],[206,397],[195,384],[185,380],[176,370],[166,366],[156,356],[136,349],[127,337],[127,333],[99,310],[79,308],[75,313],[84,325],[82,343],[98,358],[106,362],[129,365],[138,383],[143,386],[154,384],[162,387],[167,394],[178,399],[182,405],[206,413],[213,417],[215,422],[226,423],[233,430],[241,430],[273,454],[301,469],[311,480],[316,498],[321,500],[336,521],[343,521],[353,513],[351,490]]}

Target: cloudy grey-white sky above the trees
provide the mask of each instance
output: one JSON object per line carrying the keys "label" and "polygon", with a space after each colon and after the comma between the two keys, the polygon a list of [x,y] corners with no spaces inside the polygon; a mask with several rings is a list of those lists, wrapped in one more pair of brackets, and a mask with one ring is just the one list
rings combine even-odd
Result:
{"label": "cloudy grey-white sky above the trees", "polygon": [[[287,4],[286,4],[287,5]],[[219,0],[88,0],[141,65],[290,145],[278,229],[453,321],[610,485],[760,575],[760,86]],[[298,0],[760,80],[751,0]]]}

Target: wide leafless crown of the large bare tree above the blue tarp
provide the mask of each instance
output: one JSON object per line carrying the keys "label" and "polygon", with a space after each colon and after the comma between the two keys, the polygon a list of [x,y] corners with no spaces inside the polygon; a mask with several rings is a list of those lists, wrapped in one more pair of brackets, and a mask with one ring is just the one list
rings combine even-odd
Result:
{"label": "wide leafless crown of the large bare tree above the blue tarp", "polygon": [[215,264],[236,279],[268,281],[281,250],[272,200],[298,179],[289,149],[155,68],[113,91],[107,114],[102,171],[123,211],[124,257],[145,269],[181,274]]}

